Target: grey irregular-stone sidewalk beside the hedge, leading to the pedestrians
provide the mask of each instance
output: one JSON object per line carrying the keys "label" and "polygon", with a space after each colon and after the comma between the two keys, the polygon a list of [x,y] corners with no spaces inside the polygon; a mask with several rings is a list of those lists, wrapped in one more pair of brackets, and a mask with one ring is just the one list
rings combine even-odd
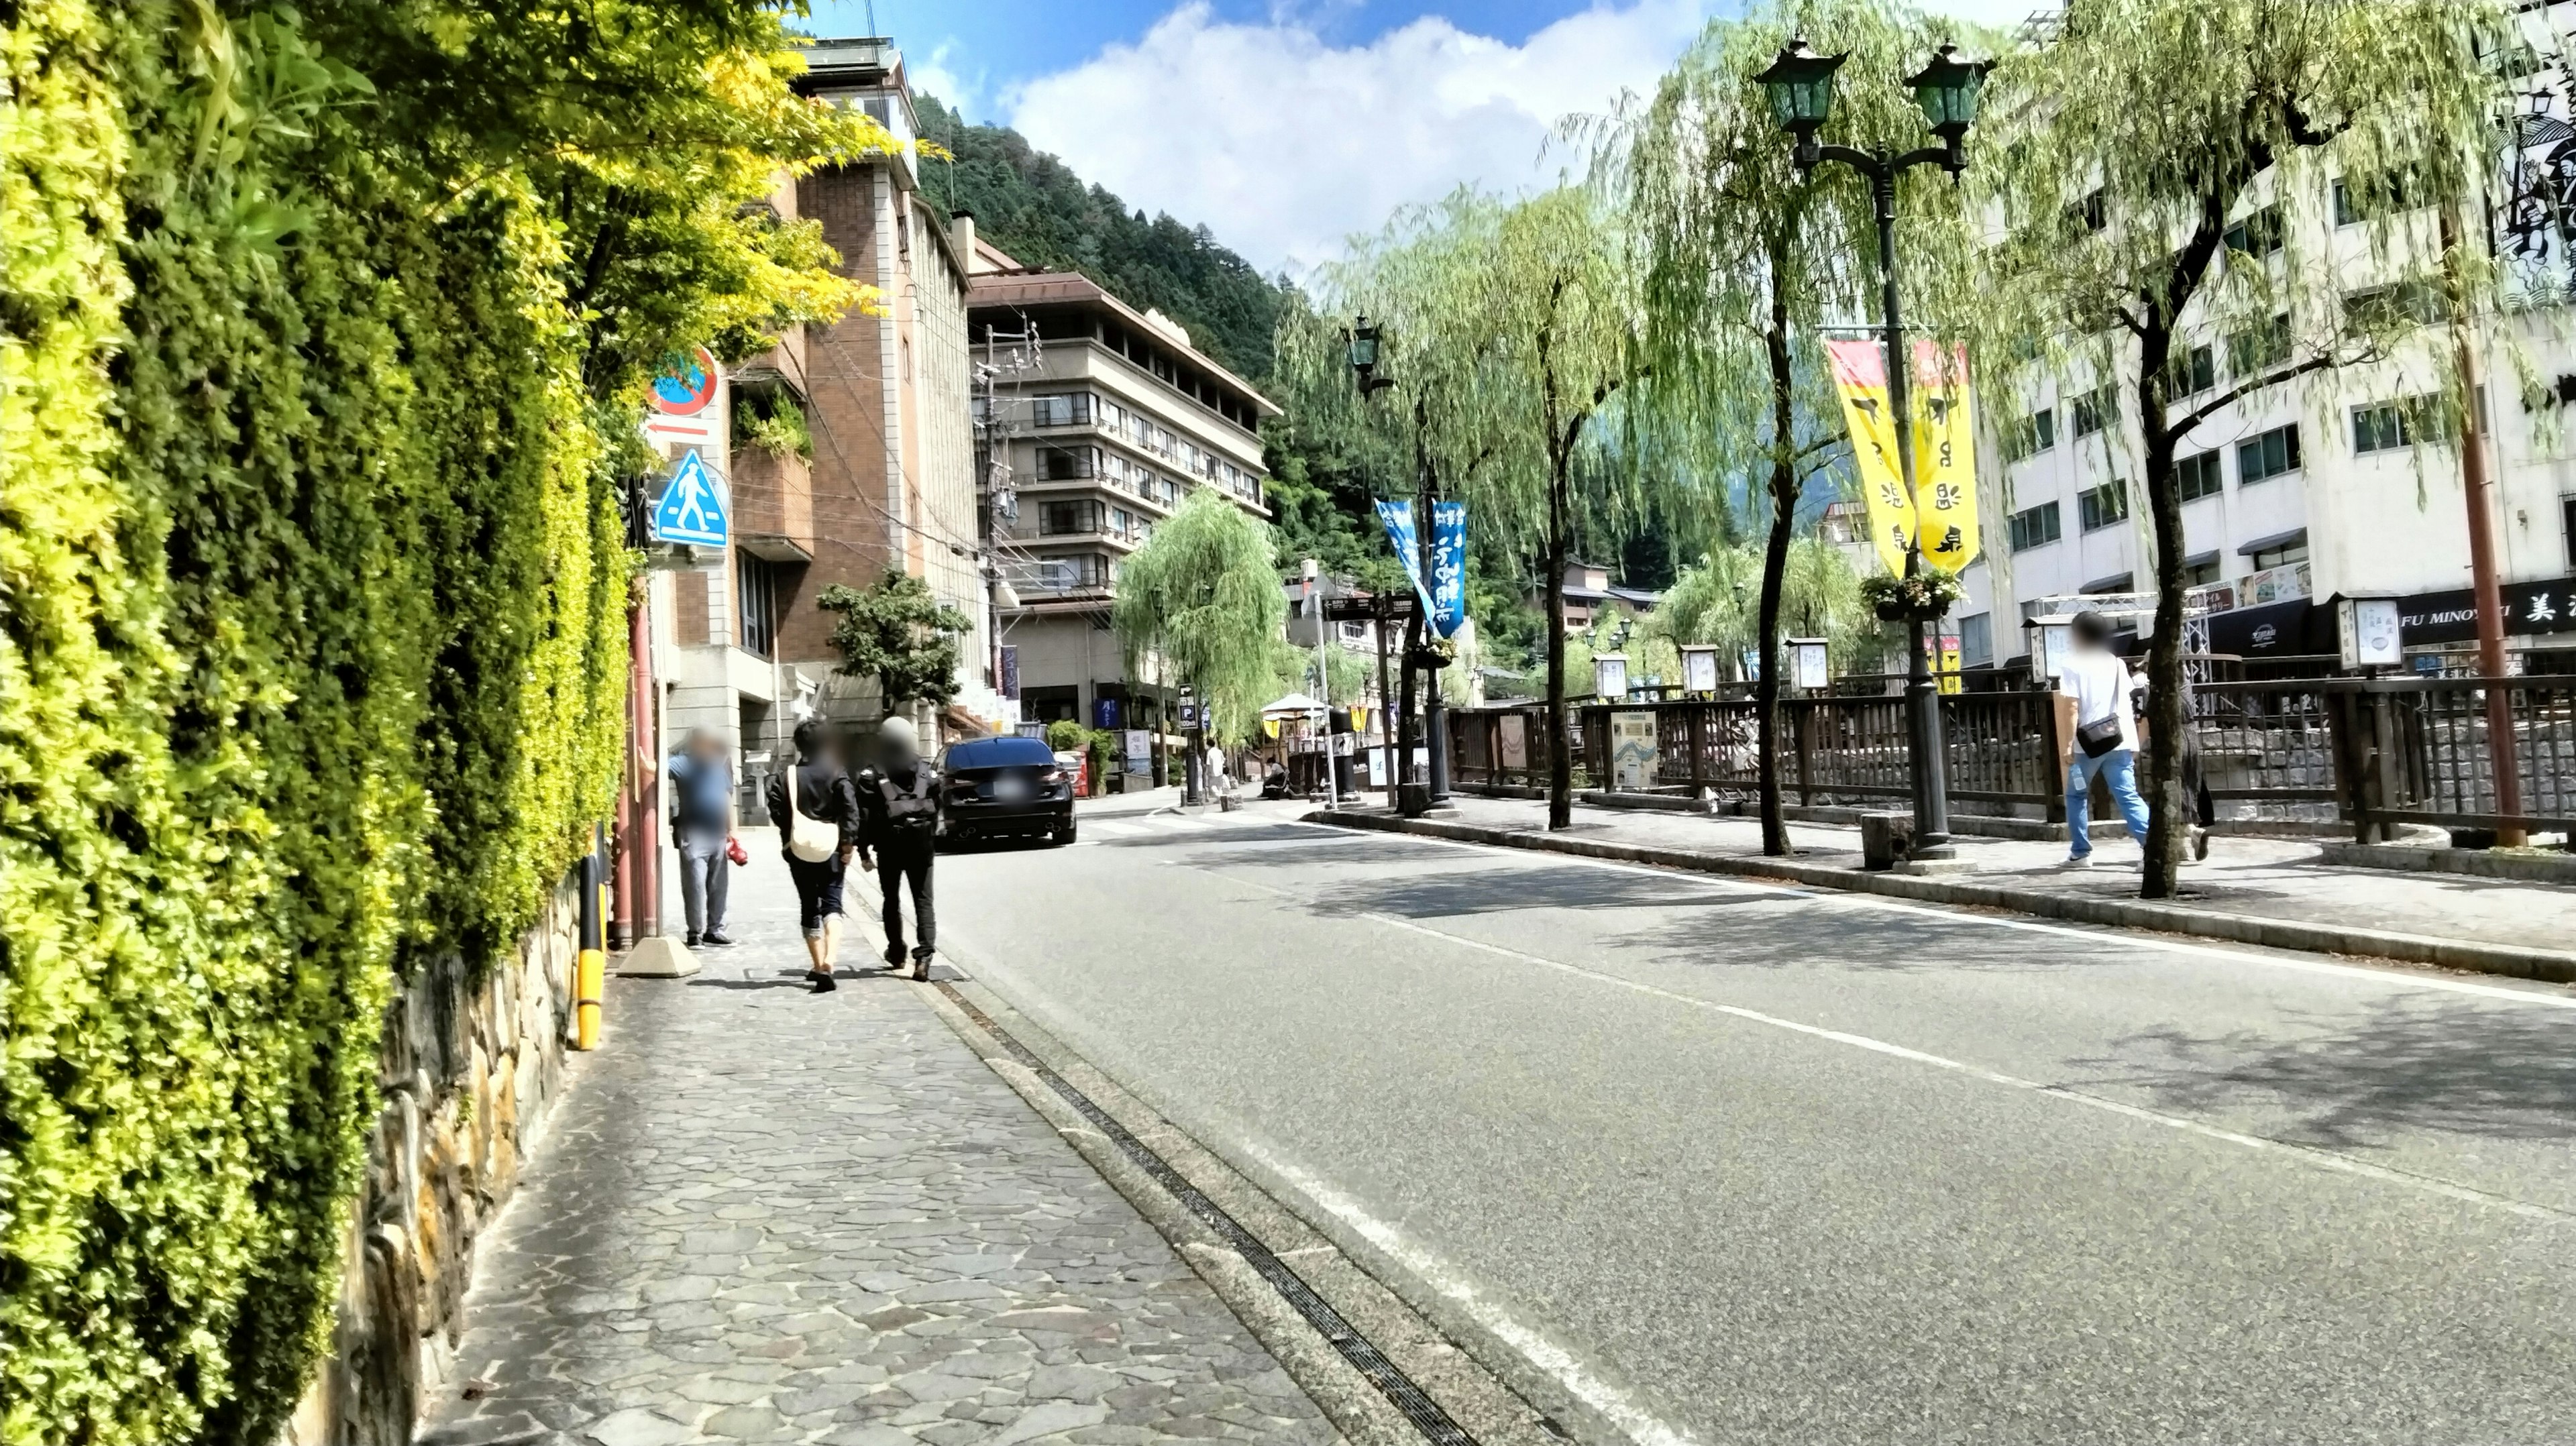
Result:
{"label": "grey irregular-stone sidewalk beside the hedge, leading to the pedestrians", "polygon": [[422,1446],[1340,1441],[917,985],[853,977],[873,928],[814,998],[775,851],[734,905],[696,979],[611,985]]}

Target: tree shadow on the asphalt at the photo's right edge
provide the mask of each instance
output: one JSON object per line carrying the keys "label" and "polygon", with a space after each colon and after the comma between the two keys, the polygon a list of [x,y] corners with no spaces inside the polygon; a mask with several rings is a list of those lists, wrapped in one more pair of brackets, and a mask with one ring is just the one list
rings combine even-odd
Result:
{"label": "tree shadow on the asphalt at the photo's right edge", "polygon": [[2280,1108],[2277,1139],[2370,1147],[2391,1132],[2576,1139],[2576,1018],[2409,995],[2362,1023],[2311,1018],[2300,1039],[2151,1028],[2071,1062],[2146,1088],[2169,1111]]}

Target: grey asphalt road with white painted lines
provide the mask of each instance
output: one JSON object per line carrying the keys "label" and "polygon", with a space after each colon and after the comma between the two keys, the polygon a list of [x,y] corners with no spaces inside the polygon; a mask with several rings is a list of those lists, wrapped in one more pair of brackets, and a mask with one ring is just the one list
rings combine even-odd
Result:
{"label": "grey asphalt road with white painted lines", "polygon": [[945,943],[1587,1433],[2576,1441],[2576,992],[1293,817]]}

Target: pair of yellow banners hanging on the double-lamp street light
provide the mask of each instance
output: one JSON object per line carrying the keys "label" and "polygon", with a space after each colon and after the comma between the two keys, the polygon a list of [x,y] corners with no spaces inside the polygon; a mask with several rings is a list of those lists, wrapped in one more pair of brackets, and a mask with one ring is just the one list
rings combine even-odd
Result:
{"label": "pair of yellow banners hanging on the double-lamp street light", "polygon": [[1924,523],[1924,562],[1958,572],[1976,562],[1976,407],[1968,394],[1968,353],[1914,343],[1914,495],[1896,469],[1896,425],[1888,407],[1886,351],[1875,340],[1832,340],[1834,392],[1852,428],[1860,495],[1870,508],[1870,541],[1891,575],[1904,575],[1914,546],[1917,510]]}

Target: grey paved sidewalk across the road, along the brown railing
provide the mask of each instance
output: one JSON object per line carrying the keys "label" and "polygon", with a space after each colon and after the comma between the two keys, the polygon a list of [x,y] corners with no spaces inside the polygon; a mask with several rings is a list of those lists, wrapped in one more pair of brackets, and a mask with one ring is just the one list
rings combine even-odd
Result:
{"label": "grey paved sidewalk across the road, along the brown railing", "polygon": [[[1548,804],[1538,799],[1481,799],[1458,794],[1455,822],[1538,833]],[[1649,848],[1690,848],[1734,858],[1762,856],[1759,820],[1656,809],[1574,807],[1574,835]],[[1860,869],[1860,830],[1793,822],[1790,845],[1801,863]],[[2138,897],[2138,845],[2094,843],[2092,869],[2063,869],[2063,843],[2009,838],[1955,838],[1973,861],[1968,882],[2089,894]],[[2576,946],[2576,889],[2522,884],[2468,874],[2398,874],[2324,861],[2313,838],[2215,835],[2210,858],[2182,871],[2182,897],[2210,912],[2277,918],[2336,928],[2419,933],[2496,946],[2566,951]]]}

